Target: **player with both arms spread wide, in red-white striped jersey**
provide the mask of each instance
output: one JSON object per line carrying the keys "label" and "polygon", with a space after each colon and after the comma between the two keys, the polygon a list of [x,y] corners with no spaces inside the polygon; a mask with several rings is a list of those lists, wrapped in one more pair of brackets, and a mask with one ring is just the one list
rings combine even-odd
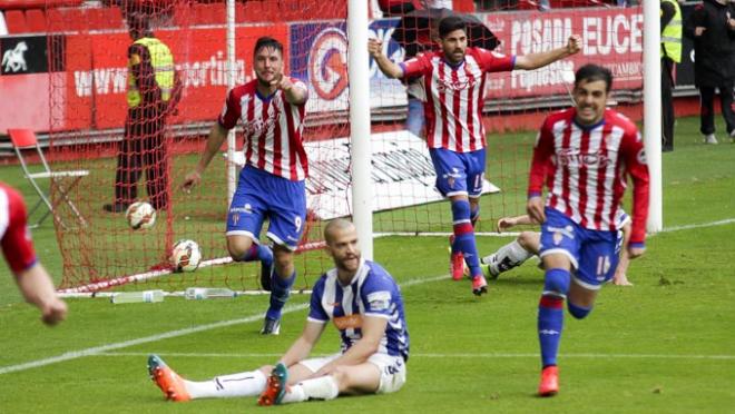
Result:
{"label": "player with both arms spread wide, in red-white striped jersey", "polygon": [[482,295],[488,292],[488,283],[480,268],[473,226],[480,217],[486,164],[481,117],[484,75],[540,68],[578,52],[580,40],[572,36],[562,48],[528,56],[503,56],[468,47],[465,23],[457,16],[439,22],[439,37],[440,51],[422,53],[400,65],[383,55],[380,40],[371,39],[367,50],[389,78],[423,77],[427,144],[437,170],[437,188],[452,205],[452,277],[455,280],[463,277],[462,262],[467,262],[472,292]]}

